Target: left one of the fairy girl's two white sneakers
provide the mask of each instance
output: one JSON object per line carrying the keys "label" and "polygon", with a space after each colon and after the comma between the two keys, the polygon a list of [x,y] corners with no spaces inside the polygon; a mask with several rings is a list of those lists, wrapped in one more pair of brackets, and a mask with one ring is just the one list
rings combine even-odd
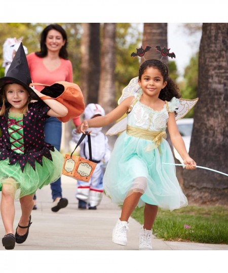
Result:
{"label": "left one of the fairy girl's two white sneakers", "polygon": [[122,246],[126,246],[128,231],[128,222],[118,219],[115,228],[112,231],[112,242]]}

